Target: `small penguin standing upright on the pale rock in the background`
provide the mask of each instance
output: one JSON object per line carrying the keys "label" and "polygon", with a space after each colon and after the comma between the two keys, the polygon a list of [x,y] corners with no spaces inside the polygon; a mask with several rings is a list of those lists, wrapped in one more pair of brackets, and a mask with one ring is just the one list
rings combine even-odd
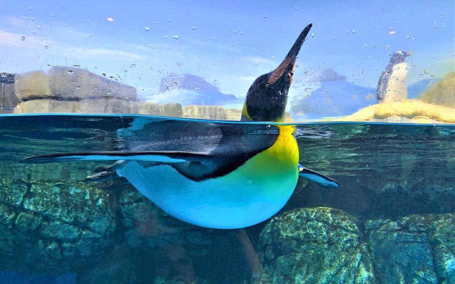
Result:
{"label": "small penguin standing upright on the pale rock in the background", "polygon": [[398,50],[390,57],[390,62],[382,71],[377,83],[377,102],[398,101],[407,97],[407,65],[404,59],[410,51]]}

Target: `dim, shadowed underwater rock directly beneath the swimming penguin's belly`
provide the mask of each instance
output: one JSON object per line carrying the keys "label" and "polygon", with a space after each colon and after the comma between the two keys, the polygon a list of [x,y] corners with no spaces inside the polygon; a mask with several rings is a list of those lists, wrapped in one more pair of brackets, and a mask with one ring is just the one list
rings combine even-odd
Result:
{"label": "dim, shadowed underwater rock directly beneath the swimming penguin's belly", "polygon": [[[213,283],[249,277],[237,230],[209,229],[180,221],[129,184],[120,191],[118,207],[125,241],[131,250],[146,255],[148,263],[155,263],[148,268],[154,277],[178,276],[191,282],[200,276],[213,279],[209,281]],[[232,271],[238,272],[232,276]]]}

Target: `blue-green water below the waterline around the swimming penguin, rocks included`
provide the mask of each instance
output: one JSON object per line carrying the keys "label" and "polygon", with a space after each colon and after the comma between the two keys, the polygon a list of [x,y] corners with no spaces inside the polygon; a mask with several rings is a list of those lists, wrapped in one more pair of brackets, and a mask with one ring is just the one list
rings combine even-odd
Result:
{"label": "blue-green water below the waterline around the swimming penguin, rocks included", "polygon": [[[271,125],[271,126],[269,126]],[[298,123],[299,179],[272,218],[236,230],[179,221],[126,180],[85,183],[110,162],[32,155],[210,143],[270,123],[140,115],[0,116],[0,280],[16,283],[450,283],[455,281],[455,127]],[[270,130],[271,129],[271,130]],[[167,148],[166,148],[167,147]],[[401,280],[400,280],[401,279]]]}

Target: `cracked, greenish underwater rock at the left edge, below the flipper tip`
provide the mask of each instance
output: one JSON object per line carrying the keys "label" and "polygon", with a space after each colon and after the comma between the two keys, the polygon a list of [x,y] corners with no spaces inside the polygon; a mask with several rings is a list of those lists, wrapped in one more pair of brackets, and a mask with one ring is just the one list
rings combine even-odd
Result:
{"label": "cracked, greenish underwater rock at the left edge, below the flipper tip", "polygon": [[0,182],[0,269],[65,273],[114,241],[109,194],[82,182]]}

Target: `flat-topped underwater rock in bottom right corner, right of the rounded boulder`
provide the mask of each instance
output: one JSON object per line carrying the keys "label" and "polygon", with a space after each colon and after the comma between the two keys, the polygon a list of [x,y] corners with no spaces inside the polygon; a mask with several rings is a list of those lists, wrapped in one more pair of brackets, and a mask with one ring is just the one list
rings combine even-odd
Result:
{"label": "flat-topped underwater rock in bottom right corner, right of the rounded boulder", "polygon": [[455,215],[365,222],[379,283],[454,283]]}

